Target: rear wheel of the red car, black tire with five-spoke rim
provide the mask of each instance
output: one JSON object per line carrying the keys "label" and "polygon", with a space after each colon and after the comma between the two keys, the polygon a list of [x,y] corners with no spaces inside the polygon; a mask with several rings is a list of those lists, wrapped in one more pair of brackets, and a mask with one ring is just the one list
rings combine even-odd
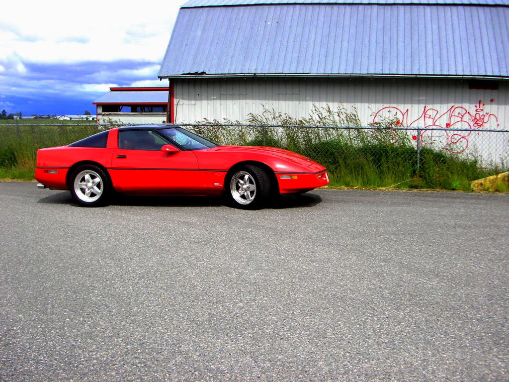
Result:
{"label": "rear wheel of the red car, black tire with five-spoke rim", "polygon": [[69,189],[79,205],[98,207],[107,203],[111,194],[111,183],[108,174],[100,167],[82,165],[71,173]]}

